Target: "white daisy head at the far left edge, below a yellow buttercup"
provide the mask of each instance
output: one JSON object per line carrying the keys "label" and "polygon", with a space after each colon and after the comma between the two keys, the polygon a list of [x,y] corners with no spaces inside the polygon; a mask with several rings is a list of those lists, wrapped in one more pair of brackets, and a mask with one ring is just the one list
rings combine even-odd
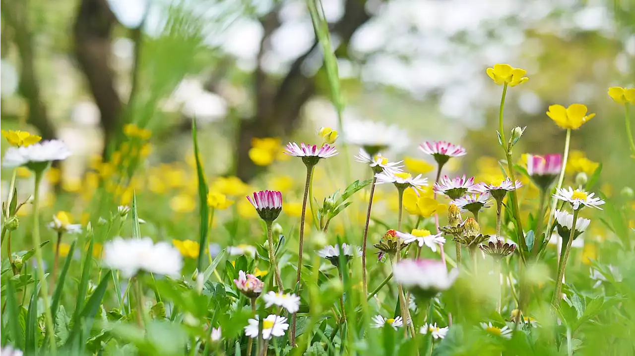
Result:
{"label": "white daisy head at the far left edge, below a yellow buttercup", "polygon": [[70,156],[66,144],[59,140],[43,141],[29,146],[10,147],[4,152],[4,168],[26,166],[39,172],[51,161],[65,160]]}

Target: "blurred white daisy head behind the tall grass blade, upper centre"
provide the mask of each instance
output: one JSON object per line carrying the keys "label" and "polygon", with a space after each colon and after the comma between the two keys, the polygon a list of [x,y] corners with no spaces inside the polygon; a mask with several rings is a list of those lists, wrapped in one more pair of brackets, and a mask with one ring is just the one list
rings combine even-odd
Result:
{"label": "blurred white daisy head behind the tall grass blade, upper centre", "polygon": [[370,156],[384,149],[399,151],[408,145],[408,132],[382,122],[347,120],[344,132],[349,143],[364,148]]}

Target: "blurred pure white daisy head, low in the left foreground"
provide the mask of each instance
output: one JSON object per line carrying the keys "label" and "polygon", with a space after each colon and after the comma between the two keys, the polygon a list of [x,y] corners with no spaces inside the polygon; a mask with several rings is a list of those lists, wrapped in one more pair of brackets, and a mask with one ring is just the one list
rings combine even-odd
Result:
{"label": "blurred pure white daisy head, low in the left foreground", "polygon": [[130,278],[140,271],[166,276],[180,276],[183,260],[176,248],[168,243],[154,243],[150,238],[114,238],[104,246],[104,264],[118,269]]}

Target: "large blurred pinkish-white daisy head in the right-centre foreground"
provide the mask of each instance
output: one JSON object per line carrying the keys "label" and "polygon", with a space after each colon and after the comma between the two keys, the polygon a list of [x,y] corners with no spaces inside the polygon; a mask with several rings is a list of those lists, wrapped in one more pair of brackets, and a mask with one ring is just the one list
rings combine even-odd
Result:
{"label": "large blurred pinkish-white daisy head in the right-centre foreground", "polygon": [[448,273],[438,260],[401,260],[394,264],[392,274],[397,283],[422,298],[432,298],[449,289],[458,276],[458,270]]}

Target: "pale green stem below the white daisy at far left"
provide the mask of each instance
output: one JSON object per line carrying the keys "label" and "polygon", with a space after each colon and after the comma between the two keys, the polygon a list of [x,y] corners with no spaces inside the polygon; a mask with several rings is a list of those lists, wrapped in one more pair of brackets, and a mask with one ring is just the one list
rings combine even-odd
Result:
{"label": "pale green stem below the white daisy at far left", "polygon": [[51,346],[51,355],[57,354],[57,345],[55,344],[55,328],[53,327],[53,316],[51,315],[51,303],[48,299],[48,284],[44,282],[44,260],[42,258],[42,249],[40,247],[41,240],[39,236],[39,186],[42,181],[44,171],[36,172],[35,191],[33,193],[33,247],[36,250],[37,272],[40,284],[40,292],[44,300],[44,319],[46,321],[46,333]]}

